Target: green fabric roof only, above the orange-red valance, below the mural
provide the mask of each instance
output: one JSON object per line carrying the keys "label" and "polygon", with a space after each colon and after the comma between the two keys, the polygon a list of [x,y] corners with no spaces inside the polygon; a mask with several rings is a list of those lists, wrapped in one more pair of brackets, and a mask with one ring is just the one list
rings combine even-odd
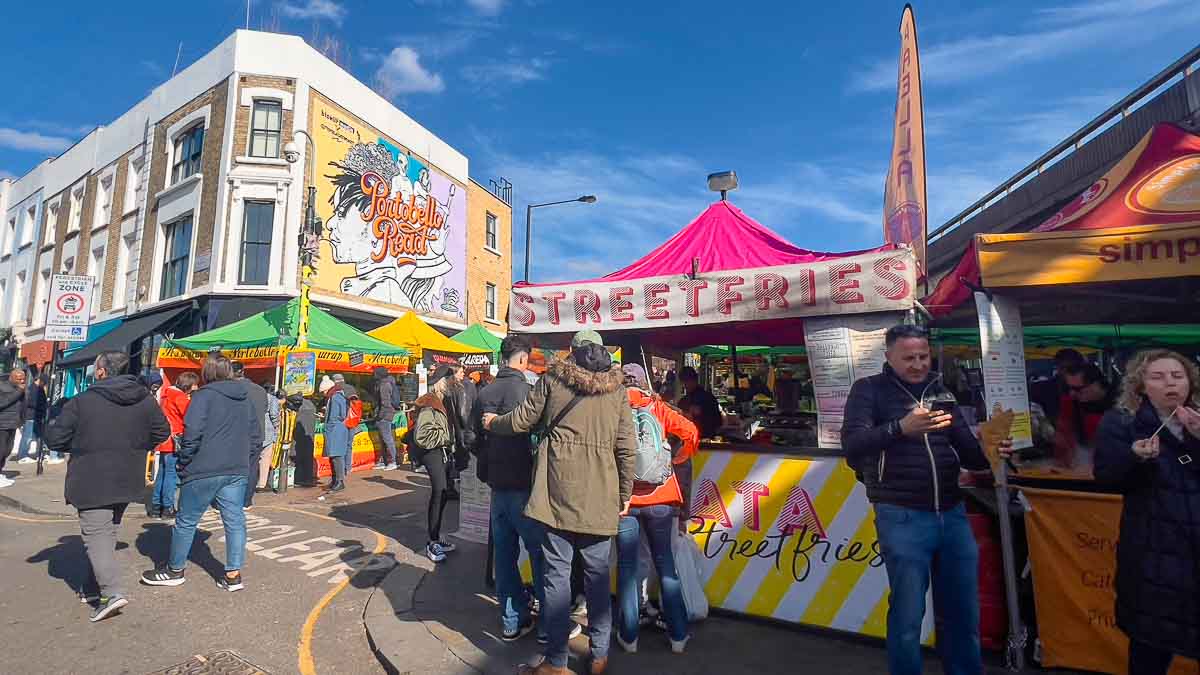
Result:
{"label": "green fabric roof only, above the orange-red valance, below the mural", "polygon": [[[170,340],[175,348],[204,352],[212,347],[248,350],[254,347],[295,346],[300,325],[300,300],[287,303],[230,323],[179,340]],[[335,318],[313,305],[308,313],[308,347],[331,352],[360,352],[376,356],[408,356],[408,350],[389,345]]]}

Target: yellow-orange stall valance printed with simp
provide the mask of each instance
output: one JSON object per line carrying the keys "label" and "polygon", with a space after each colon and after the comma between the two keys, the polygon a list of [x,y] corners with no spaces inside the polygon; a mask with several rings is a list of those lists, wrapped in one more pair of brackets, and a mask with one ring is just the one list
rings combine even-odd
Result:
{"label": "yellow-orange stall valance printed with simp", "polygon": [[977,234],[983,285],[1046,286],[1200,275],[1200,220],[1106,229]]}

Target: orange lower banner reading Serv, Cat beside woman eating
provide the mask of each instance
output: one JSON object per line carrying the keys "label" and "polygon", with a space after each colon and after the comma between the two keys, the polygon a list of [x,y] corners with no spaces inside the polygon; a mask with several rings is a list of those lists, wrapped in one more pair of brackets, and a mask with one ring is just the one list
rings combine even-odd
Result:
{"label": "orange lower banner reading Serv, Cat beside woman eating", "polygon": [[[1129,640],[1116,626],[1121,496],[1022,488],[1033,602],[1044,668],[1127,673]],[[1176,658],[1171,675],[1194,675]]]}

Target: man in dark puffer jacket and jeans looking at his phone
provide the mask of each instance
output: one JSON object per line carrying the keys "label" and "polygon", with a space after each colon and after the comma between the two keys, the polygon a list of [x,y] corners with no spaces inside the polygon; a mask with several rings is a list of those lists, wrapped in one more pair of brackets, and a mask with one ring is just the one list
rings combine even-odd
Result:
{"label": "man in dark puffer jacket and jeans looking at his phone", "polygon": [[[846,400],[841,446],[875,506],[892,595],[888,668],[922,671],[920,627],[932,574],[947,673],[983,673],[979,651],[978,558],[959,492],[959,471],[989,468],[979,442],[930,372],[929,338],[916,325],[887,333],[883,372],[854,382]],[[1004,446],[1006,450],[1008,444]]]}

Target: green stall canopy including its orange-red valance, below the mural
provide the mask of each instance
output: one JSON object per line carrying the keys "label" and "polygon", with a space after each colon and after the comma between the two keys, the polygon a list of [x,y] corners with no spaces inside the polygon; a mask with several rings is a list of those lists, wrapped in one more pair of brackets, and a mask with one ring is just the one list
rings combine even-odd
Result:
{"label": "green stall canopy including its orange-red valance, below the mural", "polygon": [[[191,338],[168,340],[158,351],[160,368],[197,369],[210,350],[220,350],[246,368],[275,368],[280,354],[295,347],[300,300],[236,321]],[[377,340],[313,306],[308,315],[308,350],[317,353],[320,370],[370,372],[384,366],[408,369],[408,350]]]}

